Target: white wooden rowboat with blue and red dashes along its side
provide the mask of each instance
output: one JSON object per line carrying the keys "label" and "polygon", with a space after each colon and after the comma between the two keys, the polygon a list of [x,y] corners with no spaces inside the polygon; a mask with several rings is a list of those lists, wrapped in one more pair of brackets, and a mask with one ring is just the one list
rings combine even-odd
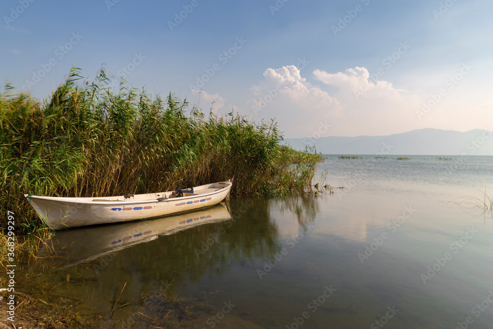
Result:
{"label": "white wooden rowboat with blue and red dashes along its side", "polygon": [[218,204],[228,196],[231,182],[193,187],[192,193],[176,191],[101,198],[59,198],[24,194],[51,229],[149,219]]}

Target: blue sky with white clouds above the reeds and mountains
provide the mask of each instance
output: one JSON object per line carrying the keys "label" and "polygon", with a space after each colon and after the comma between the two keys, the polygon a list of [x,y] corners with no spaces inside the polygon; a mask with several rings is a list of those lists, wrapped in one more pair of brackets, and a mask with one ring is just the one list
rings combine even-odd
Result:
{"label": "blue sky with white clouds above the reeds and mountains", "polygon": [[0,78],[38,99],[72,66],[104,67],[286,138],[493,125],[490,0],[3,0],[0,15]]}

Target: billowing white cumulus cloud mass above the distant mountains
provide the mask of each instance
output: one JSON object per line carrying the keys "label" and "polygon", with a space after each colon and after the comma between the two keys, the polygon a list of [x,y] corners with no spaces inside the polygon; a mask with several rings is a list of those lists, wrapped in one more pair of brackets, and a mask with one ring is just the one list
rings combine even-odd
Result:
{"label": "billowing white cumulus cloud mass above the distant mountains", "polygon": [[[309,137],[321,122],[331,128],[321,136],[387,135],[417,129],[419,97],[379,80],[366,68],[313,72],[314,85],[295,66],[267,69],[252,86],[248,102],[255,120],[275,117],[285,137]],[[331,94],[323,89],[332,90]],[[329,88],[330,87],[330,88]]]}

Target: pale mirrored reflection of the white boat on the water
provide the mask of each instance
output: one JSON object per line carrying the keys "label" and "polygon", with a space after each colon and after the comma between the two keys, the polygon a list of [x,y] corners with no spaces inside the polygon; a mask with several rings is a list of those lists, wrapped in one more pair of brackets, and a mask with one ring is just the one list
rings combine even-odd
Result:
{"label": "pale mirrored reflection of the white boat on the water", "polygon": [[[226,205],[220,203],[202,211],[160,219],[57,231],[48,245],[53,243],[57,256],[68,253],[69,263],[64,266],[68,267],[155,240],[160,235],[175,234],[201,224],[226,220],[232,220],[231,214]],[[46,250],[43,251],[45,253]],[[62,257],[67,259],[67,256]]]}

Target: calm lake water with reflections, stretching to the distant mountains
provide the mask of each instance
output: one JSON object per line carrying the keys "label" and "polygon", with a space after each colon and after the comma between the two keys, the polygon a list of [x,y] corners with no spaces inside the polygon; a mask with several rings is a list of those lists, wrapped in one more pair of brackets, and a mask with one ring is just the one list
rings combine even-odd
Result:
{"label": "calm lake water with reflections, stretching to the distant mountains", "polygon": [[493,217],[463,203],[493,157],[362,157],[320,163],[333,194],[57,232],[24,270],[95,328],[493,328]]}

